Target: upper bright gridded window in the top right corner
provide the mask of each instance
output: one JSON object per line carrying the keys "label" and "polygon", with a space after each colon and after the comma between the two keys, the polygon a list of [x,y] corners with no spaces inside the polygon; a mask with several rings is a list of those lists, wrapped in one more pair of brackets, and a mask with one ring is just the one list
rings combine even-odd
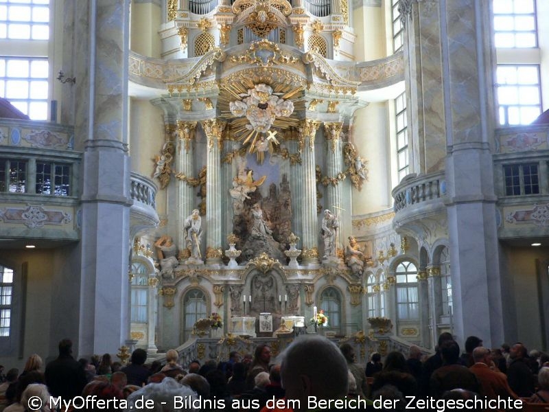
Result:
{"label": "upper bright gridded window in the top right corner", "polygon": [[537,47],[535,0],[493,0],[495,47]]}

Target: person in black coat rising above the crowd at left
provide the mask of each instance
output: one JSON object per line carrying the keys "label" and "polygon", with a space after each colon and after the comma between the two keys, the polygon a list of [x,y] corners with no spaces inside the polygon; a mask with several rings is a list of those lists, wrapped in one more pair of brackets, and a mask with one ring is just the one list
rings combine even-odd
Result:
{"label": "person in black coat rising above the crowd at left", "polygon": [[49,393],[64,400],[81,396],[87,380],[84,368],[72,356],[73,343],[70,339],[62,339],[58,348],[58,358],[47,364],[44,373]]}

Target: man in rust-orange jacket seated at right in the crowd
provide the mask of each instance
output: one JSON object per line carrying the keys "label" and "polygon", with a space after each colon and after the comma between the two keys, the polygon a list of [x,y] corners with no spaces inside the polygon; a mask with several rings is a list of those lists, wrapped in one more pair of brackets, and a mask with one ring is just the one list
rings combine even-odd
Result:
{"label": "man in rust-orange jacket seated at right in the crowd", "polygon": [[493,365],[490,357],[490,350],[484,346],[477,346],[474,348],[471,354],[474,364],[469,367],[469,371],[473,372],[476,379],[480,383],[480,394],[486,396],[488,399],[500,398],[514,398],[515,395],[509,382],[507,382],[507,376],[500,371],[491,369]]}

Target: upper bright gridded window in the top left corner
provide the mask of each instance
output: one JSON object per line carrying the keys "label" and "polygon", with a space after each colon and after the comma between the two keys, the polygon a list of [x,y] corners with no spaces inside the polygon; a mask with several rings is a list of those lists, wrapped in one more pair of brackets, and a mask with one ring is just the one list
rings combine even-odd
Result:
{"label": "upper bright gridded window in the top left corner", "polygon": [[49,0],[0,0],[0,38],[49,39]]}

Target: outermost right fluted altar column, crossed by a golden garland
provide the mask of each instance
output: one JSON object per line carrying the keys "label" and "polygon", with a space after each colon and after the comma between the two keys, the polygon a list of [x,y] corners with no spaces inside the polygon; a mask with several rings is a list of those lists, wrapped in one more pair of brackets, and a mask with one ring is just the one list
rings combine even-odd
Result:
{"label": "outermost right fluted altar column, crossed by a golden garland", "polygon": [[[337,177],[343,171],[343,161],[341,155],[341,130],[342,122],[331,122],[324,124],[324,132],[327,144],[326,156],[326,174],[329,177]],[[336,185],[327,185],[325,207],[330,209],[333,214],[338,216],[340,227],[338,229],[338,238],[336,239],[336,250],[344,249],[342,246],[345,240],[341,238],[341,220],[342,220],[342,181],[337,181]]]}

